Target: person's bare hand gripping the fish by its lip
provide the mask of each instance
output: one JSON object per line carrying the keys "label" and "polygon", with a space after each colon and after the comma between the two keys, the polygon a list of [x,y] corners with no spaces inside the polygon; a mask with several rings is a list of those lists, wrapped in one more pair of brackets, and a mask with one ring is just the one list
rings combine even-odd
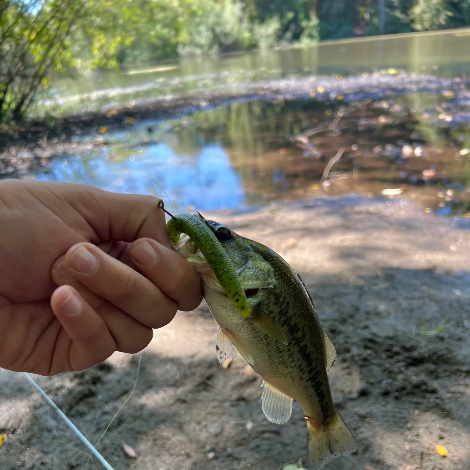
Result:
{"label": "person's bare hand gripping the fish by its lip", "polygon": [[152,196],[0,181],[0,367],[55,375],[144,349],[203,298]]}

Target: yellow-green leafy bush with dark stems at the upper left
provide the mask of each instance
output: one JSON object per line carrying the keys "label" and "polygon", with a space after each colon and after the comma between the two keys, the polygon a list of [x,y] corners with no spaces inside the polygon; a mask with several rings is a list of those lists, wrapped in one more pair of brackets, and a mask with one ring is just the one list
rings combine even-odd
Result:
{"label": "yellow-green leafy bush with dark stems at the upper left", "polygon": [[22,118],[49,85],[50,69],[72,63],[63,45],[82,11],[77,0],[0,2],[0,122]]}

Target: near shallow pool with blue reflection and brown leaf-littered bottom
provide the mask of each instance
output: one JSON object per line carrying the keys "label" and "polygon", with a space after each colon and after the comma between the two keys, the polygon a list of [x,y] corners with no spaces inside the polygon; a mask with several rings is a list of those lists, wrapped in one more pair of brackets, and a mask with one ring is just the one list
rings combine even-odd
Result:
{"label": "near shallow pool with blue reflection and brown leaf-littered bottom", "polygon": [[[462,119],[469,106],[463,88],[349,104],[232,102],[83,137],[75,156],[32,174],[155,195],[153,179],[175,211],[356,192],[463,215],[470,211],[470,127]],[[328,165],[340,148],[342,157]]]}

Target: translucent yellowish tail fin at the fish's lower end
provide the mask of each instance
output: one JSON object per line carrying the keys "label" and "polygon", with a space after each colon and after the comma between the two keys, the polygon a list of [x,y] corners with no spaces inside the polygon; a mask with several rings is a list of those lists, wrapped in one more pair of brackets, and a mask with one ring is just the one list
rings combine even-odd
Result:
{"label": "translucent yellowish tail fin at the fish's lower end", "polygon": [[327,424],[318,424],[308,417],[308,462],[319,470],[333,456],[350,454],[356,449],[356,441],[343,418],[336,412]]}

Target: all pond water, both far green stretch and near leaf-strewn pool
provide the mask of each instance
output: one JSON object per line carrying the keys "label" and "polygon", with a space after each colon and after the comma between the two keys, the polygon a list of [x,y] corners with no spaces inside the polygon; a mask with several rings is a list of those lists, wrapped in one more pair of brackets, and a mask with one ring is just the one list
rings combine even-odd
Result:
{"label": "all pond water, both far green stretch and near leaf-strewn pool", "polygon": [[[77,137],[75,155],[51,159],[29,177],[126,193],[162,196],[164,190],[175,211],[248,210],[275,200],[353,191],[399,197],[402,204],[416,199],[426,212],[465,215],[470,212],[469,41],[470,30],[365,38],[59,82],[53,94],[60,106],[86,110],[260,79],[339,78],[391,67],[460,80],[439,93],[350,103],[228,102],[166,121],[131,120],[120,130],[102,128]],[[340,148],[342,157],[326,174]]]}

